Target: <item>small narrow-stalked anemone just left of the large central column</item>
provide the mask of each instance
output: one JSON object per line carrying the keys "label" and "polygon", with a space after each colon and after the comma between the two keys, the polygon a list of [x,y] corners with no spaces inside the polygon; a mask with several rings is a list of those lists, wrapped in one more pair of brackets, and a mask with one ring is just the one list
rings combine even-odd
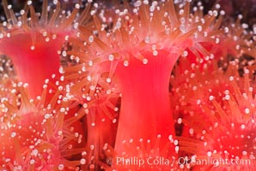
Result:
{"label": "small narrow-stalked anemone just left of the large central column", "polygon": [[101,68],[92,68],[92,61],[83,61],[81,56],[86,56],[84,53],[73,49],[64,50],[63,54],[66,54],[64,61],[70,60],[67,66],[61,68],[67,94],[71,95],[86,113],[83,127],[87,132],[88,168],[100,169],[99,163],[106,162],[103,149],[114,145],[119,115],[119,85],[114,84],[114,79],[97,79],[95,75],[100,72],[104,78],[107,78],[108,73]]}

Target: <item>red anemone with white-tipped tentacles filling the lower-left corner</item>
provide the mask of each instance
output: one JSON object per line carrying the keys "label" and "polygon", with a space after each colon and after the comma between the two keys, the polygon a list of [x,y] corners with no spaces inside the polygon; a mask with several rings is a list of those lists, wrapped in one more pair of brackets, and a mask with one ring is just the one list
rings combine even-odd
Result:
{"label": "red anemone with white-tipped tentacles filling the lower-left corner", "polygon": [[27,84],[13,83],[1,99],[1,169],[75,170],[85,164],[83,135],[71,127],[84,111],[65,119],[71,102],[58,91],[47,103],[46,86],[33,100],[27,97]]}

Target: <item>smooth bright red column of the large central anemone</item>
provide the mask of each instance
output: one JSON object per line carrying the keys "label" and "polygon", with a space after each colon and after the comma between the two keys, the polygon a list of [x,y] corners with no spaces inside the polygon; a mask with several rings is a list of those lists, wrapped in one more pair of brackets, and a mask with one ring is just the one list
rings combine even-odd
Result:
{"label": "smooth bright red column of the large central anemone", "polygon": [[[174,135],[174,121],[168,95],[169,77],[178,55],[159,50],[157,56],[152,52],[142,53],[147,60],[141,62],[131,56],[125,65],[119,65],[122,102],[115,150],[118,154],[126,151],[123,141],[142,139],[163,147],[169,135]],[[128,64],[128,66],[126,65]],[[126,67],[125,67],[126,66]],[[156,137],[161,135],[160,142]],[[139,146],[139,145],[138,145]]]}

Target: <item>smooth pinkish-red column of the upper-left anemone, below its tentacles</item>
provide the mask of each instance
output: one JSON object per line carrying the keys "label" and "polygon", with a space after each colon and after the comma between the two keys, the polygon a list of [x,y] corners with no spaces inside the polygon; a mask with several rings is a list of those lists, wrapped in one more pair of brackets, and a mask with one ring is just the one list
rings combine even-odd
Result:
{"label": "smooth pinkish-red column of the upper-left anemone, below its tentacles", "polygon": [[45,80],[58,74],[60,60],[57,51],[64,42],[64,38],[46,41],[40,34],[36,38],[34,45],[30,33],[16,34],[0,42],[0,53],[12,59],[19,80],[29,85],[30,97],[39,96]]}

